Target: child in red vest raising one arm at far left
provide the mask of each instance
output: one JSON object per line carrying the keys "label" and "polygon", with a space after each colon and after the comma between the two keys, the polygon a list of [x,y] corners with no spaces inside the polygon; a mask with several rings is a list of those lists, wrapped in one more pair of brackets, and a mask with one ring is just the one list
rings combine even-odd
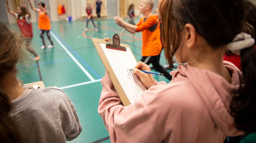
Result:
{"label": "child in red vest raising one arm at far left", "polygon": [[6,7],[7,7],[8,12],[11,15],[15,16],[16,19],[17,19],[17,23],[18,23],[18,26],[21,30],[21,34],[26,40],[27,50],[35,56],[35,58],[33,60],[39,60],[40,56],[38,56],[36,54],[36,52],[31,47],[31,41],[32,41],[32,38],[33,38],[33,30],[32,30],[32,24],[31,24],[31,21],[30,21],[30,16],[31,16],[30,13],[23,6],[18,6],[17,9],[16,9],[16,13],[15,13],[12,10],[10,10],[8,0],[5,0],[5,3],[6,3]]}

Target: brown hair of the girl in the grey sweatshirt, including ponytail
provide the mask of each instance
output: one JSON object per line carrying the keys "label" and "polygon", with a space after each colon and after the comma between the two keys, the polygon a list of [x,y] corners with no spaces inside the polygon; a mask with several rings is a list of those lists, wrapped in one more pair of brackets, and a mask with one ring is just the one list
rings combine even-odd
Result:
{"label": "brown hair of the girl in the grey sweatshirt, including ponytail", "polygon": [[[18,36],[13,34],[5,24],[0,23],[0,78],[15,70],[21,53],[20,44]],[[20,135],[13,118],[10,116],[11,109],[11,102],[0,87],[0,140],[18,143],[21,142]]]}

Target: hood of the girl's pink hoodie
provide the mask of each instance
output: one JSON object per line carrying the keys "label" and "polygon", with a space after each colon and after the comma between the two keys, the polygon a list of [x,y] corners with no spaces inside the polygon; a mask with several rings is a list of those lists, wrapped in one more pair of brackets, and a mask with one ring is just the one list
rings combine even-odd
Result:
{"label": "hood of the girl's pink hoodie", "polygon": [[226,69],[231,73],[231,83],[222,76],[209,70],[199,69],[190,65],[181,65],[172,71],[173,80],[180,73],[187,77],[218,128],[229,136],[241,134],[234,126],[234,119],[230,115],[231,93],[240,87],[242,72],[233,63],[223,61]]}

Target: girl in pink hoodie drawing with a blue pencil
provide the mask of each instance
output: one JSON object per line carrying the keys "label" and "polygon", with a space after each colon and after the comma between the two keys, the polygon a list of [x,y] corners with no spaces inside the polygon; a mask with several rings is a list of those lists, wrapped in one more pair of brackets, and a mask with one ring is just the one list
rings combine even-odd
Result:
{"label": "girl in pink hoodie drawing with a blue pencil", "polygon": [[[106,73],[98,113],[110,140],[222,143],[226,135],[241,135],[230,114],[230,103],[235,95],[244,95],[243,89],[249,89],[247,98],[255,95],[255,84],[248,84],[242,72],[256,81],[256,71],[248,71],[256,65],[255,40],[241,31],[244,1],[161,0],[159,10],[169,64],[173,56],[187,64],[173,71],[172,81],[166,84],[141,72],[150,68],[138,62],[133,72],[148,89],[128,106],[122,105]],[[240,54],[242,67],[250,63],[251,69],[246,67],[241,72],[232,63],[222,61],[226,47]]]}

